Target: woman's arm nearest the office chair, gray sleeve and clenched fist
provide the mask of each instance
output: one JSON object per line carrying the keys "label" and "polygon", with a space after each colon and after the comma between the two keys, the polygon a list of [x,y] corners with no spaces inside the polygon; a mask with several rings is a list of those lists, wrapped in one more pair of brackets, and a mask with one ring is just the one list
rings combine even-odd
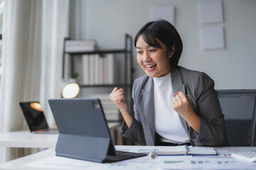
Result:
{"label": "woman's arm nearest the office chair, gray sleeve and clenched fist", "polygon": [[[200,73],[194,79],[194,82],[194,87],[190,90],[193,91],[193,96],[196,98],[195,111],[191,104],[188,104],[188,96],[185,94],[186,100],[181,93],[178,93],[179,95],[176,95],[176,99],[174,99],[174,103],[177,102],[176,105],[178,106],[175,108],[177,113],[186,119],[190,125],[189,135],[191,140],[198,143],[198,145],[227,145],[224,115],[220,108],[218,94],[214,89],[214,81],[207,74]],[[198,121],[198,118],[200,121]]]}

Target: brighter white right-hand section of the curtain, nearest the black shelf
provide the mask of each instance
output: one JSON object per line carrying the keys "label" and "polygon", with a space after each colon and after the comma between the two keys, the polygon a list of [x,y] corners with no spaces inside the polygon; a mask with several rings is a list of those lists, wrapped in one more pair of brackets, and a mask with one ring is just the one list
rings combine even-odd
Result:
{"label": "brighter white right-hand section of the curtain, nearest the black shelf", "polygon": [[69,1],[43,1],[40,101],[48,123],[53,126],[49,98],[60,98],[63,41],[68,36]]}

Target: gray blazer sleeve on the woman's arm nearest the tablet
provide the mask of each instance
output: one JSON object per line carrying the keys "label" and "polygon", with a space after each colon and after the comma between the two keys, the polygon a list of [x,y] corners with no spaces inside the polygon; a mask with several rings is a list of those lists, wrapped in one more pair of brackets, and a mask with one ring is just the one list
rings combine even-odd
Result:
{"label": "gray blazer sleeve on the woman's arm nearest the tablet", "polygon": [[132,87],[132,99],[134,101],[134,117],[132,120],[132,125],[128,128],[125,121],[122,123],[122,129],[120,131],[120,135],[126,137],[129,140],[139,144],[139,145],[146,145],[145,137],[144,137],[144,130],[142,127],[142,122],[139,117],[139,109],[137,103],[138,91],[139,86],[137,86],[137,81],[134,81],[134,85]]}

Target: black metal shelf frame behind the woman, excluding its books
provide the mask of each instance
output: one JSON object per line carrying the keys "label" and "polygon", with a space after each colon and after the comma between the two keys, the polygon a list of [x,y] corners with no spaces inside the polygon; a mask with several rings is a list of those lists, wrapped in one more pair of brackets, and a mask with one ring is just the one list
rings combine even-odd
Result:
{"label": "black metal shelf frame behind the woman, excluding its books", "polygon": [[[71,75],[74,74],[74,58],[75,57],[82,57],[82,55],[95,55],[98,54],[100,57],[105,54],[112,53],[115,54],[124,54],[124,83],[117,83],[117,84],[79,84],[80,88],[99,88],[99,87],[114,87],[114,86],[121,86],[124,91],[126,92],[124,95],[127,98],[127,104],[129,108],[132,108],[132,82],[133,82],[133,64],[132,64],[132,37],[128,34],[125,34],[124,38],[124,49],[111,49],[111,50],[92,50],[92,51],[83,51],[83,52],[65,52],[65,42],[66,40],[71,40],[70,38],[64,39],[64,47],[63,47],[63,70],[62,70],[62,77],[65,77],[65,55],[70,57],[70,73]],[[129,66],[128,66],[129,64]],[[127,93],[129,91],[129,93]],[[129,95],[129,96],[128,96]]]}

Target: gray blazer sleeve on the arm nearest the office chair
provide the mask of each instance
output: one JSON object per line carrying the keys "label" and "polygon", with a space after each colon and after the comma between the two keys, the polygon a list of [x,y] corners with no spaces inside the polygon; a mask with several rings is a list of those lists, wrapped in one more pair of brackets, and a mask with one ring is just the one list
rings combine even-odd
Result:
{"label": "gray blazer sleeve on the arm nearest the office chair", "polygon": [[191,140],[204,146],[227,145],[224,115],[213,79],[205,73],[200,73],[196,77],[195,87],[196,113],[201,117],[201,126],[199,133],[189,127]]}

